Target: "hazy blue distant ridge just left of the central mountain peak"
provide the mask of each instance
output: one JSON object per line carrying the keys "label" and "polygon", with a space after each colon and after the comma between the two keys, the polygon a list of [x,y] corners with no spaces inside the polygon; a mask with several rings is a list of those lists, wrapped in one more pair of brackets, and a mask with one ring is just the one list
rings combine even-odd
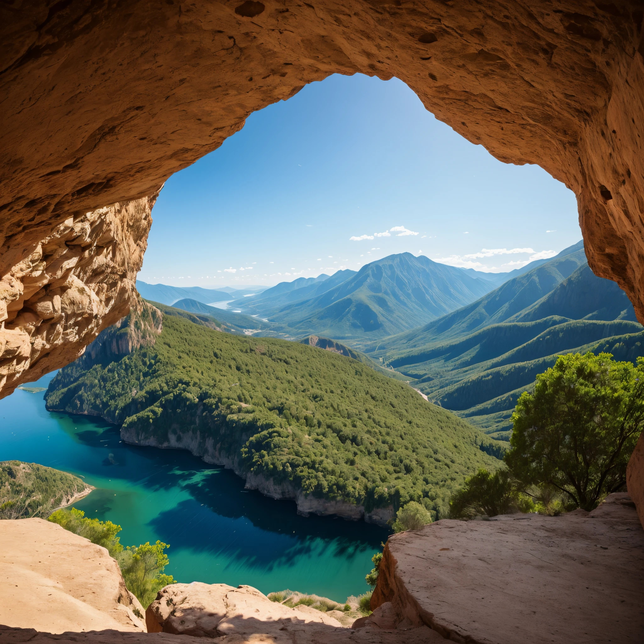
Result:
{"label": "hazy blue distant ridge just left of the central mountain peak", "polygon": [[238,307],[245,313],[256,313],[269,317],[288,304],[315,298],[327,290],[343,283],[355,275],[355,270],[338,270],[331,277],[322,274],[317,278],[298,278],[292,282],[281,282],[252,299],[238,299],[231,307]]}

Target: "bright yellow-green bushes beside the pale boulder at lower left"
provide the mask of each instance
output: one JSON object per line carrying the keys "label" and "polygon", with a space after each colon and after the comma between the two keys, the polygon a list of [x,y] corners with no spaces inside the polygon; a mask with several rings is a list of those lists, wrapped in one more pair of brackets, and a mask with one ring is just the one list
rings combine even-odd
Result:
{"label": "bright yellow-green bushes beside the pale boulder at lower left", "polygon": [[156,593],[163,587],[176,583],[171,574],[164,574],[168,564],[165,551],[169,545],[163,542],[146,542],[124,548],[117,536],[121,531],[120,526],[111,521],[87,518],[82,510],[75,507],[57,510],[49,516],[49,520],[106,548],[110,556],[117,560],[126,587],[137,596],[144,608],[155,600]]}

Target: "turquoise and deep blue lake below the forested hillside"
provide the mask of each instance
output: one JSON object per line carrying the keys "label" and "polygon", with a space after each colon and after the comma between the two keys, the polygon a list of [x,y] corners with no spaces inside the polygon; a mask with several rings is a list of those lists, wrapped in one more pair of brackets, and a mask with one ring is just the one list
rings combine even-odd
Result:
{"label": "turquoise and deep blue lake below the forested hillside", "polygon": [[0,400],[0,460],[83,477],[96,489],[74,507],[119,524],[124,545],[170,544],[166,573],[178,582],[289,588],[336,601],[368,591],[365,574],[388,530],[298,516],[295,502],[247,491],[231,471],[186,451],[127,445],[104,421],[48,412],[43,393],[16,390]]}

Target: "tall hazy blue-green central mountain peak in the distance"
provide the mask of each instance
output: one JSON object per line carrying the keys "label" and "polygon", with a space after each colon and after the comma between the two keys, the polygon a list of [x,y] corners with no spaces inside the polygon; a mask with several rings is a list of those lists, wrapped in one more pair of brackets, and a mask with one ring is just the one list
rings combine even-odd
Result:
{"label": "tall hazy blue-green central mountain peak in the distance", "polygon": [[460,269],[404,252],[373,261],[336,287],[287,305],[270,319],[294,332],[366,341],[417,327],[488,290],[488,283]]}

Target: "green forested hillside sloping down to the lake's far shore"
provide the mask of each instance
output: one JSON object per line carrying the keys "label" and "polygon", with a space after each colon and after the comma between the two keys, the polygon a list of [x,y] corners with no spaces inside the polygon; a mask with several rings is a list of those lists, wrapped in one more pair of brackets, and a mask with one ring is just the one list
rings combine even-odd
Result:
{"label": "green forested hillside sloping down to the lake's far shore", "polygon": [[444,515],[464,477],[498,466],[490,454],[502,444],[350,357],[232,336],[164,308],[155,346],[67,366],[48,408],[100,415],[139,442],[198,430],[242,473],[366,509],[424,498]]}

